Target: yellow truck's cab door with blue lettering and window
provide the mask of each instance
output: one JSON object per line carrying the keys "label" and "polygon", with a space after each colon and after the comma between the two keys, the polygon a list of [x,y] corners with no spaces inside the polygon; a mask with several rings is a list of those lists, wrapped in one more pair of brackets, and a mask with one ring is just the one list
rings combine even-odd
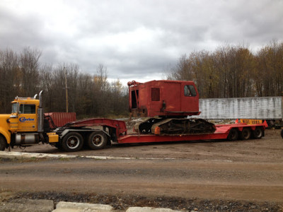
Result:
{"label": "yellow truck's cab door with blue lettering and window", "polygon": [[18,131],[37,131],[36,105],[21,104],[18,114]]}

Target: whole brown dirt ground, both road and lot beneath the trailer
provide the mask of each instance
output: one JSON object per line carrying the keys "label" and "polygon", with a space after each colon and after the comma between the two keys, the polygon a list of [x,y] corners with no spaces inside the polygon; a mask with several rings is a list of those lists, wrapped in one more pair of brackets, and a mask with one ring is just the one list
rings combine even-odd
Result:
{"label": "whole brown dirt ground, both road and lot beneath the trailer", "polygon": [[[59,153],[47,145],[24,151]],[[113,195],[121,199],[137,199],[137,195],[168,200],[197,198],[226,201],[227,206],[235,201],[276,202],[275,211],[279,211],[283,203],[282,153],[280,131],[267,130],[260,140],[123,145],[68,153],[136,158],[132,160],[2,160],[0,189],[25,195],[99,194],[108,199]],[[150,205],[150,200],[144,204]]]}

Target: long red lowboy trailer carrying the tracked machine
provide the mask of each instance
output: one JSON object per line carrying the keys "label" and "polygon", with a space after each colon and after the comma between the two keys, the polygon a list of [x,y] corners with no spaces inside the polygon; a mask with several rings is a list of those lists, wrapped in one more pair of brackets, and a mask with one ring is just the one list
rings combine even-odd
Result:
{"label": "long red lowboy trailer carrying the tracked machine", "polygon": [[[154,143],[166,141],[205,141],[221,140],[228,141],[261,139],[265,136],[266,124],[216,124],[216,131],[209,134],[179,134],[161,136],[157,134],[127,134],[125,122],[114,119],[86,119],[67,124],[68,127],[103,126],[103,131],[98,131],[96,145],[104,146],[105,143]],[[108,133],[110,132],[110,133]],[[110,136],[112,135],[112,136]],[[103,138],[106,138],[104,140]]]}

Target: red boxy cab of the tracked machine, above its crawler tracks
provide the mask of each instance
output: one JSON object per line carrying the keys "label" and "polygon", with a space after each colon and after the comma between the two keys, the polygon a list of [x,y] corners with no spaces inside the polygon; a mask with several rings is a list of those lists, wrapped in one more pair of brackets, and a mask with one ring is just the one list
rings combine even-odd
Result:
{"label": "red boxy cab of the tracked machine, above its crawler tracks", "polygon": [[198,115],[199,93],[192,81],[132,81],[129,111],[133,117],[187,117]]}

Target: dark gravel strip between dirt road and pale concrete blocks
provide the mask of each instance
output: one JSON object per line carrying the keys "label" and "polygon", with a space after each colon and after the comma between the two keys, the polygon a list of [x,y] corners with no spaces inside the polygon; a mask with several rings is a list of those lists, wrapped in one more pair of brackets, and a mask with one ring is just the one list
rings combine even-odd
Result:
{"label": "dark gravel strip between dirt road and pale concrete blocks", "polygon": [[276,203],[251,201],[224,201],[209,199],[183,199],[179,197],[150,196],[111,196],[103,194],[67,194],[55,192],[21,192],[11,199],[49,199],[55,204],[59,201],[74,201],[91,204],[109,204],[115,210],[125,210],[130,206],[149,206],[154,208],[171,208],[180,211],[282,211]]}

